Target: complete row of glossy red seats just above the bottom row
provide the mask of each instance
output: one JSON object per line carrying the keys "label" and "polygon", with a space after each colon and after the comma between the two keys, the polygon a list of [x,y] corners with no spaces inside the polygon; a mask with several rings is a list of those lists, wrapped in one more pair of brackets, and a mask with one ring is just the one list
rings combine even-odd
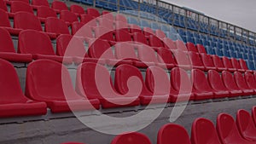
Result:
{"label": "complete row of glossy red seats just above the bottom row", "polygon": [[[144,82],[137,67],[120,65],[115,70],[113,85],[107,68],[90,62],[79,66],[74,90],[65,66],[52,60],[35,60],[27,66],[26,96],[33,101],[43,101],[38,106],[38,102],[32,102],[22,94],[14,67],[5,60],[0,63],[3,70],[0,117],[45,114],[44,102],[52,112],[69,112],[72,107],[73,110],[99,109],[100,104],[102,108],[133,107],[253,95],[256,92],[255,76],[250,72],[245,72],[244,77],[235,72],[233,77],[224,71],[221,77],[218,72],[210,70],[206,78],[204,72],[194,69],[189,78],[187,72],[176,67],[172,69],[169,81],[164,69],[149,66]],[[34,107],[34,103],[38,107]],[[20,105],[26,106],[26,110],[14,111],[20,109]]]}

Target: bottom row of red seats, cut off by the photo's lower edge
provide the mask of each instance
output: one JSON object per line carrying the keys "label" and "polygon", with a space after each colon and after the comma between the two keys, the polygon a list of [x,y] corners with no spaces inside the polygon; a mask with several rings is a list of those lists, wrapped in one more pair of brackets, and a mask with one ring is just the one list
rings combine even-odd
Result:
{"label": "bottom row of red seats, cut off by the photo's lower edge", "polygon": [[[253,115],[245,110],[236,112],[236,121],[227,113],[220,113],[216,129],[211,120],[196,118],[192,124],[191,138],[180,125],[166,124],[160,128],[157,144],[255,144],[256,143],[256,107]],[[146,135],[138,132],[117,135],[111,144],[151,144]],[[64,143],[63,143],[64,144]],[[65,144],[82,144],[67,142]]]}

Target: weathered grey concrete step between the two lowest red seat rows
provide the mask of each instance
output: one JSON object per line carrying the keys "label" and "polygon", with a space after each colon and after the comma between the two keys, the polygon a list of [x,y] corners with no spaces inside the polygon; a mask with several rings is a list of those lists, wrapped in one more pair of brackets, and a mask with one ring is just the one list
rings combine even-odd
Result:
{"label": "weathered grey concrete step between the two lowest red seat rows", "polygon": [[[251,111],[255,105],[256,98],[240,99],[236,101],[218,101],[203,104],[192,104],[186,107],[185,111],[175,121],[175,124],[181,124],[189,131],[191,124],[195,118],[209,118],[214,123],[220,112],[230,113],[234,118],[238,109],[246,109]],[[160,117],[154,120],[154,123],[148,125],[143,130],[140,130],[145,135],[148,135],[153,143],[156,143],[157,132],[164,124],[169,123],[169,117],[172,112],[172,107],[167,107],[160,114]],[[109,116],[124,117],[136,114],[137,112],[111,113]],[[147,121],[146,118],[141,118],[141,122]],[[100,125],[110,129],[118,129],[113,125],[105,125],[104,122]],[[131,126],[139,126],[133,124]],[[23,124],[1,124],[0,125],[0,143],[1,144],[60,144],[65,141],[80,141],[87,144],[109,144],[114,135],[105,135],[95,130],[91,130],[82,124],[77,118],[58,118],[50,119],[49,121],[34,121]]]}

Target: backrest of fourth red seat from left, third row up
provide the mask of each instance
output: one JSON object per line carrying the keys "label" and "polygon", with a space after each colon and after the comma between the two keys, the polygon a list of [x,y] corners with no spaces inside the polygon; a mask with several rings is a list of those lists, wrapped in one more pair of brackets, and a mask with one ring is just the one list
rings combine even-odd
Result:
{"label": "backrest of fourth red seat from left, third row up", "polygon": [[116,59],[109,43],[102,39],[90,41],[88,55],[97,59]]}

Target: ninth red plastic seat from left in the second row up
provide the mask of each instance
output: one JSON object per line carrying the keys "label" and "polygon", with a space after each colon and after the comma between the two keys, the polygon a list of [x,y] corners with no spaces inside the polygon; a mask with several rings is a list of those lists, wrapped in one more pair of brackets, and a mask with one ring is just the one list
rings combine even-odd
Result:
{"label": "ninth red plastic seat from left in the second row up", "polygon": [[232,73],[224,71],[222,72],[222,80],[224,82],[224,85],[232,95],[243,95],[243,92],[241,89],[239,89],[236,85],[235,79],[232,76]]}

